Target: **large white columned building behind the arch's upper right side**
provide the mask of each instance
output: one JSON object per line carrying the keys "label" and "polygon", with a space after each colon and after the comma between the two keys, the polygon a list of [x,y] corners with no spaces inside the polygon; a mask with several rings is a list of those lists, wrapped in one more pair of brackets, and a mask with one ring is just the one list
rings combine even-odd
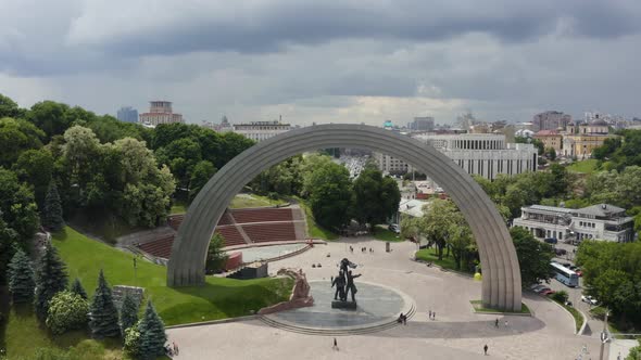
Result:
{"label": "large white columned building behind the arch's upper right side", "polygon": [[[537,150],[532,144],[505,142],[494,133],[422,133],[415,139],[430,143],[467,173],[493,180],[499,173],[516,175],[537,170]],[[391,173],[411,171],[411,165],[385,154],[375,154],[380,170]]]}

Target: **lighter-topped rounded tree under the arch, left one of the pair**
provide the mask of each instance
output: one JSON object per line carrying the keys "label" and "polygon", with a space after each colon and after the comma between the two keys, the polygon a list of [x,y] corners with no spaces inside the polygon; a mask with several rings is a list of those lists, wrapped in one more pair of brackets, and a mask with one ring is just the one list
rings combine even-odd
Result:
{"label": "lighter-topped rounded tree under the arch, left one of the pair", "polygon": [[312,214],[320,226],[341,229],[349,223],[352,205],[352,182],[344,166],[323,162],[305,180]]}

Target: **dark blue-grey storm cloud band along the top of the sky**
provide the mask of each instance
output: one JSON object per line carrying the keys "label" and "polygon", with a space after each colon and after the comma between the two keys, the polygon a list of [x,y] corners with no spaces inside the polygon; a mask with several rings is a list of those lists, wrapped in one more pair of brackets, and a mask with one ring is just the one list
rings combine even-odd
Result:
{"label": "dark blue-grey storm cloud band along the top of the sky", "polygon": [[[112,36],[101,37],[90,34],[91,16],[80,16],[77,25],[88,34],[76,34],[75,38],[109,52],[135,56],[196,51],[278,52],[289,44],[313,46],[353,38],[438,41],[468,33],[520,42],[554,33],[563,24],[574,36],[607,38],[636,33],[641,26],[641,3],[634,0],[274,0],[254,7],[242,1],[227,4],[227,16],[218,16],[218,8],[205,5],[161,18],[155,25],[151,21],[147,26],[123,31],[108,17],[104,26],[113,26],[114,30]],[[140,16],[144,21],[149,15]]]}

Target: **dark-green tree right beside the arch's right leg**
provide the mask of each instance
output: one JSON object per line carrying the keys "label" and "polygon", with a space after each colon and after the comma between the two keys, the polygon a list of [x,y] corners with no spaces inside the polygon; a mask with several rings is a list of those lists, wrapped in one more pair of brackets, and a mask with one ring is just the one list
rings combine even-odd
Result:
{"label": "dark-green tree right beside the arch's right leg", "polygon": [[510,229],[514,242],[518,265],[520,267],[520,282],[523,286],[538,284],[552,277],[550,262],[552,261],[552,246],[542,243],[521,227]]}

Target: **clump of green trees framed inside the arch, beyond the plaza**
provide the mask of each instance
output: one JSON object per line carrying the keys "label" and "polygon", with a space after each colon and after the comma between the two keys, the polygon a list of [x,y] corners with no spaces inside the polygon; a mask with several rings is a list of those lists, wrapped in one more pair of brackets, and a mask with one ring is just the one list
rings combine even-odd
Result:
{"label": "clump of green trees framed inside the arch, beyond the plaza", "polygon": [[322,154],[290,157],[263,171],[250,187],[259,194],[302,200],[315,222],[335,232],[352,219],[376,232],[376,224],[391,217],[401,201],[395,180],[384,177],[375,164],[367,164],[352,181],[344,166]]}

